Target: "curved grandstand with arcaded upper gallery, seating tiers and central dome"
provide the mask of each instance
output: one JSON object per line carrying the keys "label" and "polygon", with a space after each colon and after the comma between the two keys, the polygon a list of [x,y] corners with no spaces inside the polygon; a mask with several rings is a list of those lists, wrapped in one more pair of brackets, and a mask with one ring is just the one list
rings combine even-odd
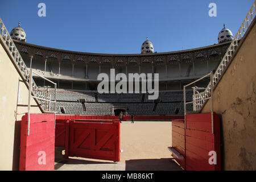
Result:
{"label": "curved grandstand with arcaded upper gallery, seating tiers and central dome", "polygon": [[[57,83],[57,113],[86,115],[117,115],[119,111],[135,115],[181,115],[183,108],[183,86],[207,73],[215,72],[230,41],[212,46],[184,51],[140,54],[102,54],[64,51],[61,49],[36,46],[14,40],[24,63],[36,73]],[[150,49],[150,47],[148,47]],[[110,69],[115,74],[159,73],[159,98],[148,100],[148,94],[99,94],[97,76]],[[39,76],[34,76],[36,85],[46,85]],[[209,77],[197,82],[205,88]],[[49,89],[53,93],[53,89]],[[52,94],[53,96],[53,94]],[[52,97],[53,99],[53,97]],[[188,89],[187,101],[192,101],[192,90]],[[52,107],[53,109],[53,107]],[[192,105],[187,106],[192,111]]]}

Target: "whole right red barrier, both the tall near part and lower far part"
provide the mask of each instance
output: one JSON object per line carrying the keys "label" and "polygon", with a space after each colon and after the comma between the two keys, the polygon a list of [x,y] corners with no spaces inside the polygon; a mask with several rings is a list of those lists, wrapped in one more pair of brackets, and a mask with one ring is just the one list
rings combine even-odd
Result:
{"label": "whole right red barrier, both the tall near part and lower far part", "polygon": [[[214,113],[214,134],[212,134],[211,113],[187,114],[186,130],[183,121],[172,121],[172,147],[185,157],[176,161],[189,171],[216,171],[221,169],[220,117]],[[217,164],[209,164],[216,152]],[[174,157],[175,158],[175,157]]]}

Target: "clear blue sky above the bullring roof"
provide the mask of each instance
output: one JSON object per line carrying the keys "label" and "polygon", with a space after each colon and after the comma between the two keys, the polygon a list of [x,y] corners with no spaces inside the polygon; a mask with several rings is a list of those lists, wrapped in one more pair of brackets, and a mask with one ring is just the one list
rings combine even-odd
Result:
{"label": "clear blue sky above the bullring roof", "polygon": [[[46,17],[38,4],[46,4]],[[235,35],[254,0],[0,1],[9,33],[21,22],[27,42],[95,53],[141,53],[149,37],[154,51],[169,52],[217,43],[223,24]],[[210,17],[216,3],[217,17]]]}

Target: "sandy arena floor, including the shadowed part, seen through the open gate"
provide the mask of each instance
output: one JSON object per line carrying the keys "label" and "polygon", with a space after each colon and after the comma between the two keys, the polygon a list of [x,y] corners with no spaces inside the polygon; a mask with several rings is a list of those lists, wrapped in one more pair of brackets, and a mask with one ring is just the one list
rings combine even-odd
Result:
{"label": "sandy arena floor, including the shadowed part, seen through the open gate", "polygon": [[121,123],[121,160],[69,157],[55,162],[57,171],[171,171],[182,170],[171,156],[171,122]]}

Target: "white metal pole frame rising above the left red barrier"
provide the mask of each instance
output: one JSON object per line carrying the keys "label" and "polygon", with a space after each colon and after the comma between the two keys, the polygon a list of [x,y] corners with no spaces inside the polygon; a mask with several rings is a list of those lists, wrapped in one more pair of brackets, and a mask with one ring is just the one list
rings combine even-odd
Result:
{"label": "white metal pole frame rising above the left red barrier", "polygon": [[[51,94],[49,93],[48,87],[46,88],[39,88],[36,91],[36,96],[32,96],[32,80],[33,80],[33,74],[40,76],[44,80],[51,82],[54,85],[55,88],[55,98],[54,101],[51,100]],[[51,80],[48,80],[47,78],[39,75],[38,73],[33,72],[33,69],[30,69],[30,81],[29,81],[29,89],[28,89],[28,131],[27,135],[30,135],[30,107],[31,107],[31,98],[36,98],[37,100],[40,100],[44,102],[46,105],[46,108],[48,111],[51,109],[51,102],[54,103],[54,115],[56,114],[56,88],[57,84]],[[55,128],[55,119],[54,119],[54,128]]]}

